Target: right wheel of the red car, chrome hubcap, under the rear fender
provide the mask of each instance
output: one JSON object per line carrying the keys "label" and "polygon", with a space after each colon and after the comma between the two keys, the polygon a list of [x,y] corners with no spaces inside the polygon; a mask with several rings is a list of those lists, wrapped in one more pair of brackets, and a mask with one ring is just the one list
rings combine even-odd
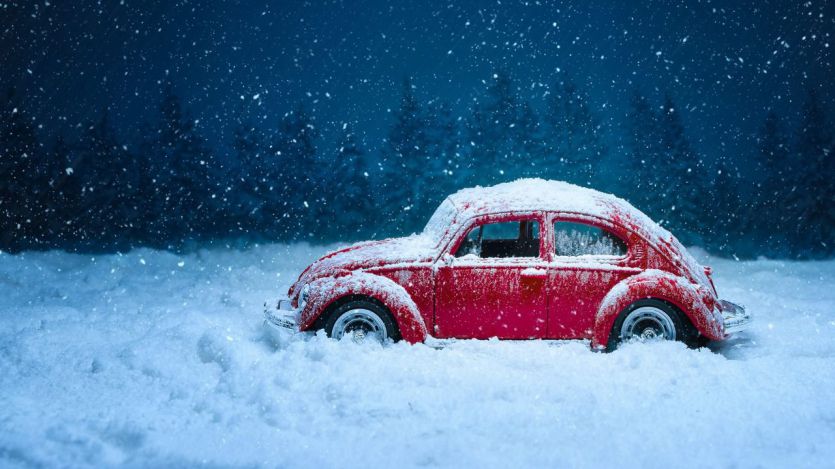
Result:
{"label": "right wheel of the red car, chrome hubcap, under the rear fender", "polygon": [[623,342],[682,340],[684,326],[678,312],[658,300],[633,303],[618,315],[609,335],[609,350]]}

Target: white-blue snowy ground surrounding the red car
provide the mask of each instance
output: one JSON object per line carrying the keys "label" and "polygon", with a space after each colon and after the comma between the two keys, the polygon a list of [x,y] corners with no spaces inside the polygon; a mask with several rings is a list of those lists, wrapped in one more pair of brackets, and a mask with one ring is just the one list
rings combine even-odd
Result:
{"label": "white-blue snowy ground surrounding the red car", "polygon": [[261,304],[322,251],[0,254],[0,466],[835,461],[835,261],[708,259],[757,319],[710,350],[277,349]]}

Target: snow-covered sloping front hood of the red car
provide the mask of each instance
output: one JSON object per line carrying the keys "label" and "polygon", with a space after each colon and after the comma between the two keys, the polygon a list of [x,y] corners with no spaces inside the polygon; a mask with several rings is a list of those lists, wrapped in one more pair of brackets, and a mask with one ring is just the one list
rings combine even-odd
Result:
{"label": "snow-covered sloping front hood of the red car", "polygon": [[296,283],[289,295],[320,277],[329,277],[357,269],[369,269],[396,264],[431,262],[438,251],[438,241],[426,234],[381,241],[365,241],[329,252],[310,265]]}

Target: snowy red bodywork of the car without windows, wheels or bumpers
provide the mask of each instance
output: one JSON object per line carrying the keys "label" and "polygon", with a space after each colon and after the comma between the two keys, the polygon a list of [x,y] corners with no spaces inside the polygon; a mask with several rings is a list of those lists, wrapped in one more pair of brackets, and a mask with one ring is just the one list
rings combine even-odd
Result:
{"label": "snowy red bodywork of the car without windows, wheels or bumpers", "polygon": [[[538,256],[453,256],[472,227],[521,220],[538,222]],[[555,222],[604,229],[626,254],[558,256]],[[308,299],[300,305],[302,288]],[[621,199],[554,181],[460,191],[424,233],[325,255],[289,291],[301,306],[301,330],[320,327],[328,308],[357,295],[385,305],[412,343],[428,336],[591,339],[604,348],[617,315],[646,298],[673,305],[710,339],[725,335],[708,270],[669,232]]]}

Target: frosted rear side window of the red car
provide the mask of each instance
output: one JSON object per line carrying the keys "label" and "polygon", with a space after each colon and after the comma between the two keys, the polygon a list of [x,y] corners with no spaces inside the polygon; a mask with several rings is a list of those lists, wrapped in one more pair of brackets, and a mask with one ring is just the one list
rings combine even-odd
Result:
{"label": "frosted rear side window of the red car", "polygon": [[625,256],[626,243],[607,230],[585,223],[554,223],[557,256]]}

